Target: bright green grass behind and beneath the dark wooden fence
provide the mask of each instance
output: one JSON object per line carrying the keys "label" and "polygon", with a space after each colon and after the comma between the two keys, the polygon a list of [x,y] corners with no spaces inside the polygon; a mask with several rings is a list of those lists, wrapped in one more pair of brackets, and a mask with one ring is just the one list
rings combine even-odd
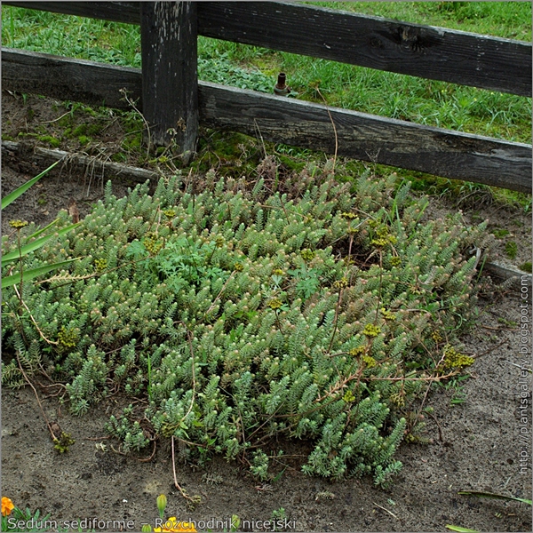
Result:
{"label": "bright green grass behind and beneath the dark wooden fence", "polygon": [[[529,41],[528,2],[317,2],[334,9]],[[5,46],[140,68],[139,27],[50,12],[4,7]],[[199,76],[205,81],[271,92],[284,71],[298,99],[497,139],[531,142],[531,99],[403,76],[333,61],[275,52],[207,37],[198,39]],[[318,91],[317,91],[318,88]],[[399,171],[434,194],[469,194],[449,179]],[[421,179],[421,181],[420,181]],[[417,187],[415,187],[417,188]],[[498,190],[497,198],[530,211],[530,195]]]}

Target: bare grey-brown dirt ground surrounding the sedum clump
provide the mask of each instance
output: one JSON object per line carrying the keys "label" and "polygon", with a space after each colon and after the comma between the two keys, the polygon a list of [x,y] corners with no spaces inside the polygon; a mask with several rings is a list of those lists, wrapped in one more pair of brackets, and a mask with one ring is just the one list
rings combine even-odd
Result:
{"label": "bare grey-brown dirt ground surrounding the sedum clump", "polygon": [[[25,114],[15,99],[5,98],[3,119],[9,117],[9,128],[13,128],[15,114]],[[46,99],[30,104],[32,120],[53,120],[61,113],[52,112]],[[4,157],[3,195],[41,170],[29,161]],[[52,221],[72,199],[84,216],[101,192],[98,181],[55,171],[5,210],[3,230],[9,231],[8,219],[30,219],[39,225]],[[114,192],[123,195],[126,187],[117,182]],[[489,219],[489,227],[505,228],[513,235],[519,243],[515,265],[530,260],[530,215],[489,203],[462,208],[467,221]],[[431,212],[454,209],[457,204],[434,203]],[[497,243],[493,257],[504,256],[504,244]],[[287,467],[278,480],[258,484],[238,462],[217,458],[206,469],[195,468],[180,459],[177,450],[180,486],[189,495],[202,497],[202,503],[191,511],[174,486],[169,442],[158,442],[148,461],[143,459],[149,451],[145,457],[115,452],[117,443],[107,438],[104,425],[127,399],[109,398],[83,418],[75,418],[57,397],[45,398],[52,391],[37,385],[47,418],[57,420],[76,442],[68,453],[58,454],[31,388],[3,389],[2,494],[20,507],[50,513],[50,519],[63,529],[69,525],[66,521],[96,518],[131,521],[127,530],[139,531],[143,522],[154,525],[155,498],[165,493],[167,516],[205,521],[203,529],[212,530],[223,528],[210,527],[209,520],[229,519],[232,514],[241,518],[242,530],[265,530],[261,528],[265,524],[258,521],[271,520],[277,511],[287,519],[282,528],[287,531],[445,531],[446,524],[481,531],[530,531],[529,505],[457,495],[458,490],[481,490],[531,497],[531,401],[525,411],[527,424],[522,431],[527,433],[522,441],[521,370],[514,366],[522,361],[517,330],[522,301],[516,290],[489,291],[481,299],[479,320],[462,339],[464,351],[476,356],[472,378],[461,383],[462,390],[442,387],[430,395],[434,418],[426,420],[426,436],[433,442],[402,444],[397,453],[402,473],[390,489],[376,489],[370,478],[341,482],[311,478],[299,472],[298,458],[291,457],[280,465],[280,472],[281,466]],[[295,445],[293,453],[301,454],[305,446]]]}

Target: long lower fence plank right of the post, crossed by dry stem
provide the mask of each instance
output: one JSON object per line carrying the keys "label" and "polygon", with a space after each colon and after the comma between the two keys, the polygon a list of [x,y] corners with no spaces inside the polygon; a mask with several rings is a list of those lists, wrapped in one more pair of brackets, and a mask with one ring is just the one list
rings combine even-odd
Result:
{"label": "long lower fence plank right of the post, crossed by dry stem", "polygon": [[531,192],[531,147],[376,115],[201,85],[201,123],[327,153]]}

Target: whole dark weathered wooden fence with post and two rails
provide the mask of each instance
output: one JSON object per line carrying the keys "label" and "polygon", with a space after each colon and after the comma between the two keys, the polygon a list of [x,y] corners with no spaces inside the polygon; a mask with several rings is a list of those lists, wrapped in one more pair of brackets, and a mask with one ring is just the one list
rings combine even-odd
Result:
{"label": "whole dark weathered wooden fence with post and two rails", "polygon": [[[193,155],[198,125],[531,192],[531,146],[199,82],[197,35],[531,96],[531,44],[282,2],[4,2],[141,27],[142,70],[4,48],[4,88],[141,101],[150,139]],[[273,80],[273,85],[274,85]],[[524,105],[526,103],[524,102]]]}

